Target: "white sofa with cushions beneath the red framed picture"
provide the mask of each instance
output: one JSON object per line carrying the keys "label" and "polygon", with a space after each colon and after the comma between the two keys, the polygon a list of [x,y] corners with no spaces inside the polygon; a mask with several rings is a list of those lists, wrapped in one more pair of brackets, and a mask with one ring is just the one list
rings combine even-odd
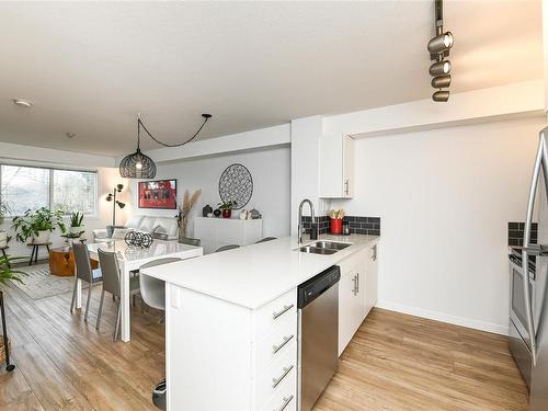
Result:
{"label": "white sofa with cushions beneath the red framed picture", "polygon": [[124,239],[129,230],[150,232],[155,237],[168,241],[179,239],[179,227],[174,217],[135,215],[127,219],[125,226],[107,226],[105,229],[93,230],[93,242]]}

